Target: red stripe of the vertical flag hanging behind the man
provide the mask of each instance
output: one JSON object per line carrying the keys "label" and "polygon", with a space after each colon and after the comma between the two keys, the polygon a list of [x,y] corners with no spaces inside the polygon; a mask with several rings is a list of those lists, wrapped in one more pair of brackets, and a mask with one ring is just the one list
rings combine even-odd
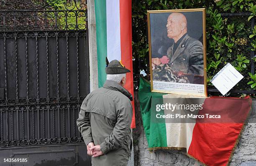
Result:
{"label": "red stripe of the vertical flag hanging behind the man", "polygon": [[[131,70],[126,74],[125,89],[133,95],[133,61],[132,61],[132,25],[131,25],[131,0],[120,0],[120,43],[121,60],[125,68]],[[134,96],[134,95],[133,95]],[[134,101],[131,128],[135,128]]]}

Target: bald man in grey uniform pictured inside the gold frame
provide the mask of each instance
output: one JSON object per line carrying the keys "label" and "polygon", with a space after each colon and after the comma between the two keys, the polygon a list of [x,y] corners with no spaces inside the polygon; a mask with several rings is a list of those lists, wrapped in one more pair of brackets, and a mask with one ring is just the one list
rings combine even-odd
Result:
{"label": "bald man in grey uniform pictured inside the gold frame", "polygon": [[172,13],[167,19],[167,36],[174,43],[167,50],[167,57],[152,58],[152,66],[169,63],[177,73],[204,74],[203,46],[187,34],[187,19],[182,13]]}

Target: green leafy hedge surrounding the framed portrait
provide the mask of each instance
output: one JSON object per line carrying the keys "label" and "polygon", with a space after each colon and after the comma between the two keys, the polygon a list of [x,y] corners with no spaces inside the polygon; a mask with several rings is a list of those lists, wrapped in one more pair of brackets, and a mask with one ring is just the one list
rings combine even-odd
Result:
{"label": "green leafy hedge surrounding the framed portrait", "polygon": [[255,65],[256,62],[256,57],[251,58],[251,50],[256,50],[256,26],[251,27],[251,20],[256,16],[254,0],[133,0],[132,3],[135,76],[139,75],[141,70],[149,75],[147,10],[206,8],[208,86],[212,86],[210,79],[218,69],[226,63],[231,63],[245,76],[236,89],[256,89],[256,74],[251,74],[251,63]]}

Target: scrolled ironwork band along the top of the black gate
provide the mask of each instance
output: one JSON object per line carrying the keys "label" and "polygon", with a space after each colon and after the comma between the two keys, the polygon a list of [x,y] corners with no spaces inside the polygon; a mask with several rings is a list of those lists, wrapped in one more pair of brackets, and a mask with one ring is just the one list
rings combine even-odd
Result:
{"label": "scrolled ironwork band along the top of the black gate", "polygon": [[86,30],[86,23],[85,0],[0,0],[0,31]]}

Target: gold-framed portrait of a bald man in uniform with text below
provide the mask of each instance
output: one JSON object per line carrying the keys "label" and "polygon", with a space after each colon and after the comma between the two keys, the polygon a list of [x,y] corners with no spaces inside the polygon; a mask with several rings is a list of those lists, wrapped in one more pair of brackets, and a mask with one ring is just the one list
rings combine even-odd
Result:
{"label": "gold-framed portrait of a bald man in uniform with text below", "polygon": [[205,8],[147,14],[151,91],[207,96]]}

